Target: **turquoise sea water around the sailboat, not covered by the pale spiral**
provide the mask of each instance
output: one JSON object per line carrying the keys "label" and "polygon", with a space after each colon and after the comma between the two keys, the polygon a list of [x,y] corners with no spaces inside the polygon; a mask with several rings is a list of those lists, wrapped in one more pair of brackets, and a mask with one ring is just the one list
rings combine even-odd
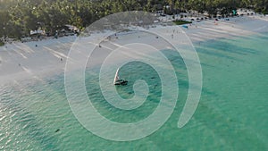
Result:
{"label": "turquoise sea water around the sailboat, not covered by the pale spiral", "polygon": [[[188,74],[179,54],[163,50],[179,80],[180,96],[170,119],[147,138],[131,142],[105,140],[80,125],[71,113],[63,74],[0,87],[0,150],[268,150],[268,34],[217,39],[196,44],[203,69],[197,111],[177,128],[188,93]],[[153,113],[161,97],[157,73],[145,63],[121,69],[130,84],[117,88],[133,96],[132,81],[150,88],[144,105],[117,110],[102,96],[98,69],[86,71],[88,96],[98,112],[114,122],[138,122]],[[172,95],[172,94],[171,94]]]}

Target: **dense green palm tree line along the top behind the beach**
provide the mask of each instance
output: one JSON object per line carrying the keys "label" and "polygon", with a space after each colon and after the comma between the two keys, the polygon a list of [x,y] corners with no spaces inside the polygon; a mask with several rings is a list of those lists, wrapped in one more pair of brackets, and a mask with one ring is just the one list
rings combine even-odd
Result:
{"label": "dense green palm tree line along the top behind the beach", "polygon": [[0,0],[0,38],[21,38],[39,28],[53,34],[65,24],[84,29],[106,15],[125,11],[228,15],[238,8],[267,14],[268,0]]}

